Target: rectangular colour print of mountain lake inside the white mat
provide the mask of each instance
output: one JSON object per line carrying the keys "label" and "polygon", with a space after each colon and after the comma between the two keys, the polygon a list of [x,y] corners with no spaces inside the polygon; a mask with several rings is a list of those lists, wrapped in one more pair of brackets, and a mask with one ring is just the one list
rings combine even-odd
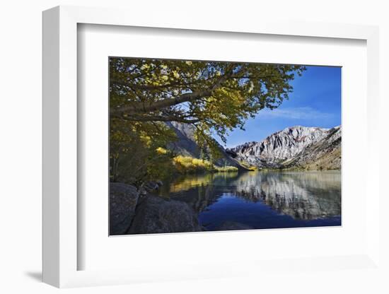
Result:
{"label": "rectangular colour print of mountain lake inside the white mat", "polygon": [[341,67],[108,61],[109,235],[341,225]]}

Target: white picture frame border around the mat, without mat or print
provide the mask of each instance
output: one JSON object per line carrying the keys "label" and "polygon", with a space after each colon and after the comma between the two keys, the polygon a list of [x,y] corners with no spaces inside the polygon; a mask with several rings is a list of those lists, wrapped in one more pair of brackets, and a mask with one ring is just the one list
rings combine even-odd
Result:
{"label": "white picture frame border around the mat, without mat or print", "polygon": [[[198,22],[188,16],[173,25],[161,18],[145,20],[130,11],[114,8],[85,8],[58,6],[43,13],[43,281],[57,287],[98,286],[137,281],[169,281],[196,278],[227,277],[251,271],[272,268],[271,262],[261,264],[233,261],[234,269],[226,271],[223,264],[199,264],[191,269],[175,271],[165,269],[159,275],[148,274],[140,264],[132,269],[78,270],[78,111],[77,111],[77,25],[121,25],[146,28],[166,28],[214,32],[289,35],[312,38],[341,38],[366,41],[367,46],[367,115],[368,150],[373,151],[378,122],[378,28],[366,25],[331,23],[298,23],[291,21],[247,20],[231,23],[204,19]],[[339,270],[334,264],[356,264],[366,269],[379,266],[379,176],[377,152],[368,153],[367,172],[371,172],[366,185],[371,196],[366,204],[368,236],[366,252],[353,256],[311,257],[298,259],[294,266],[307,264]],[[366,192],[367,193],[367,192]],[[381,195],[382,196],[382,195]],[[221,236],[221,235],[220,235]],[[273,262],[273,261],[272,261]],[[278,265],[284,266],[281,261]],[[290,261],[289,261],[290,264]],[[315,266],[315,265],[314,265]],[[274,268],[274,266],[273,266]]]}

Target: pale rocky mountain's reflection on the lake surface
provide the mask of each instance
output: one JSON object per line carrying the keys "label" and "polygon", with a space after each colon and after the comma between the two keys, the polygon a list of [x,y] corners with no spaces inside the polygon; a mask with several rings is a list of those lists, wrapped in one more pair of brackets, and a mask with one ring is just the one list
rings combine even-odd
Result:
{"label": "pale rocky mountain's reflection on the lake surface", "polygon": [[294,218],[340,215],[340,174],[335,172],[246,173],[236,181],[236,194]]}

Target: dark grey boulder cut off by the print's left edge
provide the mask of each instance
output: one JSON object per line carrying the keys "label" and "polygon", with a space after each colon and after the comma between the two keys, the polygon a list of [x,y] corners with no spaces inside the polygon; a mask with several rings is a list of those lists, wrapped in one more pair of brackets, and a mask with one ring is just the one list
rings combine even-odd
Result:
{"label": "dark grey boulder cut off by the print's left edge", "polygon": [[123,235],[129,229],[139,199],[137,188],[124,183],[110,183],[110,235]]}

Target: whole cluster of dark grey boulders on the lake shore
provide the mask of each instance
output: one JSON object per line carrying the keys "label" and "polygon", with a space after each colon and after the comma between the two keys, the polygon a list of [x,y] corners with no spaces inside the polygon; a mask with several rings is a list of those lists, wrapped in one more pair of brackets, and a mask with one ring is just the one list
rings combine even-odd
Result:
{"label": "whole cluster of dark grey boulders on the lake shore", "polygon": [[141,189],[110,183],[110,235],[201,231],[197,213],[182,201],[149,194],[161,183]]}

